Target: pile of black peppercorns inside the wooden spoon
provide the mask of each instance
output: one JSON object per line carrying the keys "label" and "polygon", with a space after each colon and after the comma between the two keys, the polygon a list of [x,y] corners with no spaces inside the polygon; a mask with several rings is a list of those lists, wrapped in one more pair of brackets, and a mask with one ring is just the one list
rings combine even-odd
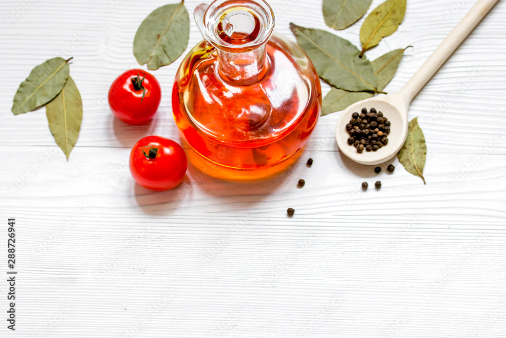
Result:
{"label": "pile of black peppercorns inside the wooden spoon", "polygon": [[348,144],[357,148],[358,153],[363,153],[364,149],[366,152],[376,152],[388,143],[390,121],[381,111],[376,112],[376,109],[371,108],[368,112],[366,108],[362,108],[361,114],[352,114],[346,130],[350,134]]}

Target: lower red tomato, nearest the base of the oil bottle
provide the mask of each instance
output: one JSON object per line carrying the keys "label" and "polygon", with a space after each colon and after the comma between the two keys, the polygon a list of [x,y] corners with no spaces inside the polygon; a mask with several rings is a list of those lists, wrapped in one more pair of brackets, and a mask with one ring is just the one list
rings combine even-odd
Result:
{"label": "lower red tomato, nearest the base of the oil bottle", "polygon": [[146,189],[172,189],[181,183],[187,168],[181,145],[165,137],[144,137],[130,153],[130,173]]}

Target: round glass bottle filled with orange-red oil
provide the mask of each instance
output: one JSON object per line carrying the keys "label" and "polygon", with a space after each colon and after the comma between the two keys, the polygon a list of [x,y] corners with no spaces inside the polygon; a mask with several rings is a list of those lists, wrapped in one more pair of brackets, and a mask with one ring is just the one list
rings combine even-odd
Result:
{"label": "round glass bottle filled with orange-red oil", "polygon": [[195,9],[204,37],[183,60],[173,88],[174,118],[204,173],[257,179],[292,164],[321,110],[308,56],[273,33],[263,0],[216,0]]}

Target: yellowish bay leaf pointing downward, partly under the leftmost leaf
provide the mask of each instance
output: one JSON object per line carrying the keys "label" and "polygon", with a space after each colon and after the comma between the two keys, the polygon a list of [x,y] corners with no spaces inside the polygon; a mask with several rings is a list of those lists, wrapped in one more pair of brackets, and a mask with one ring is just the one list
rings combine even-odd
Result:
{"label": "yellowish bay leaf pointing downward, partly under the leftmost leaf", "polygon": [[81,95],[71,77],[60,94],[46,105],[46,116],[56,144],[65,153],[68,161],[79,137],[82,121]]}

